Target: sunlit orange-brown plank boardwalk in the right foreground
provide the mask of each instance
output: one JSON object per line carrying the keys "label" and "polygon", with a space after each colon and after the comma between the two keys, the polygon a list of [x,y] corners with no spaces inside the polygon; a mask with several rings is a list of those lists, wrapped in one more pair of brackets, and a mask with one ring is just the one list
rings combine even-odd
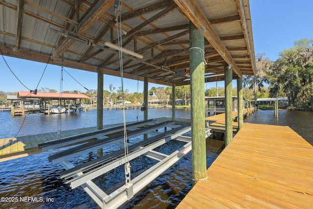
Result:
{"label": "sunlit orange-brown plank boardwalk in the right foreground", "polygon": [[244,123],[178,209],[313,208],[313,146],[290,127]]}

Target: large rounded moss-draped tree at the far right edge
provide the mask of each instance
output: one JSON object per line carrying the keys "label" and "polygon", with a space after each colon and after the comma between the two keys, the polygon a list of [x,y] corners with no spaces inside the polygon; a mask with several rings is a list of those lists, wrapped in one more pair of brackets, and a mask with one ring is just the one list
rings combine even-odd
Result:
{"label": "large rounded moss-draped tree at the far right edge", "polygon": [[279,55],[271,72],[275,91],[286,93],[291,106],[311,105],[313,109],[313,40],[295,41],[294,47]]}

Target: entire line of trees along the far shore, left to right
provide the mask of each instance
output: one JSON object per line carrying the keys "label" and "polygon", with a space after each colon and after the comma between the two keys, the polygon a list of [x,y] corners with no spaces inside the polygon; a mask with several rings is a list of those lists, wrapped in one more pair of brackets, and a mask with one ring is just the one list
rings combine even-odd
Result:
{"label": "entire line of trees along the far shore, left to right", "polygon": [[[276,61],[270,61],[264,54],[256,56],[258,75],[244,76],[244,99],[256,100],[267,97],[288,97],[291,107],[313,108],[313,40],[303,39],[294,42],[294,46],[279,53]],[[116,90],[116,91],[115,91]],[[41,88],[39,92],[57,93],[56,90]],[[224,87],[212,87],[205,90],[205,96],[224,96]],[[63,93],[81,93],[80,91],[64,91]],[[0,91],[0,99],[4,99]],[[11,94],[11,93],[10,93]],[[90,103],[96,99],[97,90],[83,93],[91,98]],[[148,92],[148,100],[158,99],[162,105],[168,105],[172,100],[172,87],[152,87]],[[237,95],[237,88],[233,89]],[[2,97],[3,98],[2,98]],[[184,105],[190,99],[190,86],[177,86],[175,88],[177,100]],[[124,98],[124,99],[123,99]],[[143,92],[130,93],[122,87],[109,85],[109,91],[103,91],[103,105],[110,105],[116,101],[128,100],[133,104],[143,102]]]}

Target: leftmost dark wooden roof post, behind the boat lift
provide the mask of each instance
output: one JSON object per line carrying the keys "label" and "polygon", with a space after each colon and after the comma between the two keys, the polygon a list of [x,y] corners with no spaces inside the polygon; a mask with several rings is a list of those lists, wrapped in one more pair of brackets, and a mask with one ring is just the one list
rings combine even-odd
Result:
{"label": "leftmost dark wooden roof post, behind the boat lift", "polygon": [[[97,69],[98,86],[97,86],[97,130],[103,129],[103,73],[101,68]],[[87,106],[85,105],[87,110]],[[97,157],[103,156],[103,149],[97,150]]]}

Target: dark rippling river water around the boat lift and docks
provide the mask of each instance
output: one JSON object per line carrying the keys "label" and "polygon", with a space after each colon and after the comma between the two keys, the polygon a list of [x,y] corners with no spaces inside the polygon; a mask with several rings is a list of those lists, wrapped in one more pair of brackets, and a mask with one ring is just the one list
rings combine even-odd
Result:
{"label": "dark rippling river water around the boat lift and docks", "polygon": [[[104,125],[121,123],[123,121],[122,112],[118,110],[104,111]],[[135,121],[137,116],[138,120],[143,119],[143,113],[137,110],[126,110],[125,114],[127,122]],[[149,109],[148,115],[149,118],[156,118],[171,116],[172,112],[171,109]],[[176,116],[190,117],[190,110],[177,109]],[[60,119],[62,119],[61,124]],[[279,118],[275,119],[273,111],[257,111],[246,118],[245,122],[288,125],[313,144],[313,112],[279,111]],[[96,126],[96,111],[70,113],[70,115],[27,115],[26,117],[13,117],[9,112],[0,112],[0,139],[16,135],[56,132],[60,127],[61,130],[69,130],[91,126]],[[190,136],[190,133],[186,135]],[[166,153],[180,146],[179,143],[170,143],[159,149]],[[207,167],[213,163],[223,149],[224,141],[207,140]],[[80,187],[71,189],[64,184],[59,176],[63,170],[62,166],[49,163],[47,157],[48,153],[45,152],[0,163],[0,197],[12,200],[11,202],[0,202],[1,209],[99,208],[83,189]],[[75,158],[75,162],[72,163],[83,163],[94,158],[96,158],[96,152]],[[132,177],[134,178],[154,163],[154,160],[145,157],[132,162]],[[124,170],[115,169],[96,178],[94,182],[110,194],[125,182],[124,178]],[[175,208],[191,189],[191,179],[191,152],[189,152],[120,208]]]}

